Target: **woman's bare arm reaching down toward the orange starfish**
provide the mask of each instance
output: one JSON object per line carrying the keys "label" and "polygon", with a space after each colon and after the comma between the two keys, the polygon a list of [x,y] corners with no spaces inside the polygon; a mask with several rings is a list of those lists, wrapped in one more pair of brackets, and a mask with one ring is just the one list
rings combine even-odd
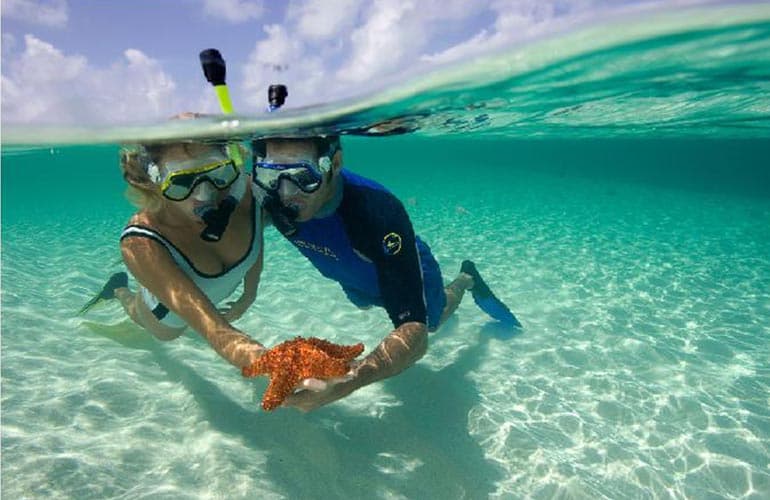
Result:
{"label": "woman's bare arm reaching down toward the orange starfish", "polygon": [[262,345],[230,325],[160,243],[149,238],[124,238],[121,251],[139,283],[200,333],[220,356],[236,367],[256,361]]}

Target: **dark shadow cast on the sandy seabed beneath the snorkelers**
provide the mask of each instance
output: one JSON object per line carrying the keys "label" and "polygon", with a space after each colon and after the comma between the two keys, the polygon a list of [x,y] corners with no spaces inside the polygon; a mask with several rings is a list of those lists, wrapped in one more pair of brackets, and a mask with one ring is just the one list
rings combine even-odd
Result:
{"label": "dark shadow cast on the sandy seabed beneath the snorkelers", "polygon": [[[451,365],[432,371],[418,363],[382,382],[381,389],[402,404],[380,418],[334,404],[308,414],[247,410],[169,356],[160,343],[113,340],[151,352],[169,378],[190,391],[214,428],[266,454],[262,472],[288,498],[371,498],[386,492],[407,498],[487,498],[503,471],[468,433],[469,411],[480,398],[467,375],[483,359],[490,339],[510,335],[486,325]],[[259,395],[263,390],[264,384],[255,388]]]}

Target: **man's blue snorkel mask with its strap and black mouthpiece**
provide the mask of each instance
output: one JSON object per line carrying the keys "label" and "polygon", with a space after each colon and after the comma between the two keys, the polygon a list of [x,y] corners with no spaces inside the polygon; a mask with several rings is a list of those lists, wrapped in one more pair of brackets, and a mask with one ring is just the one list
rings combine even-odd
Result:
{"label": "man's blue snorkel mask with its strap and black mouthpiece", "polygon": [[332,158],[340,150],[339,136],[314,137],[318,164],[311,162],[276,163],[267,157],[269,139],[257,139],[252,142],[254,163],[252,181],[264,191],[262,207],[270,214],[273,225],[285,236],[291,236],[297,230],[297,210],[287,207],[278,194],[282,182],[288,182],[303,193],[312,194],[324,182],[329,182],[332,171]]}

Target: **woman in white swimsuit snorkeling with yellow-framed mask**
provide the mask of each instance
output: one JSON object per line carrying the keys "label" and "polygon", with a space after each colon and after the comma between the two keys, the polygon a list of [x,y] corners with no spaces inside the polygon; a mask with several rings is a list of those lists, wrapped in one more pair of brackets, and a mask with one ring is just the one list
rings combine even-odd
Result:
{"label": "woman in white swimsuit snorkeling with yellow-framed mask", "polygon": [[[187,326],[232,365],[252,364],[264,348],[233,327],[254,302],[262,272],[262,210],[227,144],[127,146],[120,166],[139,207],[120,237],[123,260],[139,282],[116,273],[81,312],[117,298],[128,316],[161,340]],[[221,311],[243,282],[243,294]]]}

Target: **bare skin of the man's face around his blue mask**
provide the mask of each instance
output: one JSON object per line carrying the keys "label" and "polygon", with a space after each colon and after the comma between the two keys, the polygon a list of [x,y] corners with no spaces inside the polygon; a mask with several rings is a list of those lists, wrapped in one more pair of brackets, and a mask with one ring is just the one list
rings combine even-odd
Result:
{"label": "bare skin of the man's face around his blue mask", "polygon": [[[265,163],[307,163],[318,170],[318,151],[313,141],[268,141],[266,153]],[[303,222],[312,219],[326,203],[331,195],[331,185],[329,182],[321,182],[316,191],[306,193],[289,179],[282,179],[278,186],[278,195],[285,206],[297,210],[297,220]]]}

